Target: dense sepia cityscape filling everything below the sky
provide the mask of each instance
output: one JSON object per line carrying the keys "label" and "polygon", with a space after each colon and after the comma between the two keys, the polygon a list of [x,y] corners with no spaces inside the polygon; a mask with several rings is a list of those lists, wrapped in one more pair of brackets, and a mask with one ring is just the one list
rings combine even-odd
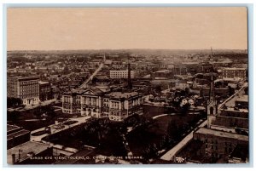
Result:
{"label": "dense sepia cityscape filling everything below the sky", "polygon": [[8,51],[9,164],[247,163],[247,50]]}

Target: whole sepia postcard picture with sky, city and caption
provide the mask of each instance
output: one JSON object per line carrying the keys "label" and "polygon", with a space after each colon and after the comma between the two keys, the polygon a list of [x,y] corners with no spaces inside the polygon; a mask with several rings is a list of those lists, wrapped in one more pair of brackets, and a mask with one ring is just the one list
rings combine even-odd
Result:
{"label": "whole sepia postcard picture with sky, city and caption", "polygon": [[8,165],[248,164],[247,13],[7,8]]}

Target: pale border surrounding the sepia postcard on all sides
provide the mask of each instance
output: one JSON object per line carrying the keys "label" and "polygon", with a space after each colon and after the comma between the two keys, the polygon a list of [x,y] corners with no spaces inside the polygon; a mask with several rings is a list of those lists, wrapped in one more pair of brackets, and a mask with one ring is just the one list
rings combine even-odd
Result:
{"label": "pale border surrounding the sepia postcard on all sides", "polygon": [[[176,1],[172,1],[172,2],[170,2],[170,1],[168,1],[168,0],[140,0],[140,1],[138,1],[138,0],[123,0],[123,1],[118,1],[118,0],[108,0],[108,1],[104,1],[104,0],[84,0],[84,1],[82,1],[82,0],[38,0],[38,1],[35,1],[35,0],[23,0],[22,2],[20,1],[20,0],[3,0],[3,1],[1,1],[1,7],[0,7],[0,18],[1,18],[1,36],[0,36],[0,38],[1,38],[1,40],[3,41],[3,3],[94,3],[94,4],[96,4],[96,3],[253,3],[253,19],[254,20],[256,20],[256,17],[255,17],[255,10],[256,10],[256,5],[255,5],[255,3],[254,3],[254,1],[253,0],[237,0],[236,2],[234,1],[234,0],[208,0],[208,1],[204,1],[204,0],[194,0],[194,1],[189,1],[189,0],[176,0]],[[255,22],[253,23],[253,33],[255,34]],[[254,40],[254,38],[253,38],[253,40]],[[254,41],[253,41],[254,42]],[[2,42],[3,43],[3,42]],[[2,52],[2,54],[3,54],[3,45],[2,46],[0,46],[0,52]],[[255,51],[255,45],[254,45],[254,43],[253,43],[253,52],[256,52]],[[255,54],[255,53],[254,53]],[[3,66],[3,56],[2,56],[2,58],[0,58],[1,60],[1,66]],[[255,66],[255,61],[256,60],[253,60],[253,66]],[[254,73],[254,69],[255,67],[253,67],[253,69],[251,70],[253,73]],[[0,70],[1,71],[1,81],[3,82],[3,70]],[[250,74],[252,74],[253,75],[253,73],[250,73]],[[254,77],[252,76],[251,78],[253,78],[253,85],[254,85]],[[252,81],[252,80],[250,80],[250,81]],[[3,86],[6,86],[6,83],[1,83],[0,84],[0,95],[1,95],[1,97],[3,97],[3,94],[5,94],[6,92],[3,92]],[[250,96],[253,98],[253,94],[252,94],[252,92],[250,92]],[[255,105],[255,100],[254,100],[254,98],[253,98],[253,104],[250,104],[250,105],[253,105],[253,106],[256,106]],[[3,111],[2,109],[3,109],[3,103],[0,103],[0,108],[1,108],[1,111]],[[254,110],[253,110],[254,111]],[[1,112],[1,114],[3,115],[4,113],[2,113]],[[252,113],[253,114],[253,113]],[[0,117],[0,122],[1,123],[3,123],[3,117]],[[253,121],[253,125],[255,125],[254,124],[255,123],[255,119],[254,119],[254,121]],[[0,131],[0,133],[1,133],[1,138],[3,138],[3,133],[2,133],[2,131]],[[253,136],[253,143],[255,144],[255,137],[256,136]],[[4,140],[4,139],[3,139]],[[0,157],[0,163],[1,163],[1,165],[3,166],[3,149],[2,149],[2,146],[3,146],[3,141],[2,140],[0,140],[0,151],[1,151],[1,154],[2,154],[2,157]],[[254,146],[254,145],[253,145]],[[253,148],[253,154],[255,154],[255,146],[254,146],[254,148]],[[254,163],[254,165],[255,165],[255,158],[256,157],[253,157],[253,163]],[[39,168],[40,166],[37,166],[38,168],[16,168],[16,169],[20,169],[20,170],[30,170],[30,169],[37,169],[37,170],[46,170],[46,169],[50,169],[50,168]],[[53,166],[54,167],[54,166]],[[124,167],[124,166],[119,166],[119,167]],[[146,167],[146,166],[145,166]],[[254,167],[253,167],[254,168]],[[253,170],[253,168],[230,168],[230,169],[232,169],[232,170],[244,170],[244,169],[246,169],[246,170]],[[4,170],[9,170],[9,169],[14,169],[14,168],[3,168]],[[57,169],[57,170],[70,170],[70,169],[73,169],[73,168],[54,168],[54,169]],[[100,168],[76,168],[76,169],[86,169],[86,170],[91,170],[91,169],[93,169],[93,170],[98,170],[98,169],[100,169]],[[101,168],[102,169],[102,168]],[[118,170],[119,168],[103,168],[103,169],[109,169],[109,170]],[[132,168],[122,168],[122,169],[124,169],[124,170],[131,170]],[[134,168],[133,168],[134,169]],[[138,169],[138,168],[136,168],[136,169]],[[149,170],[154,170],[155,168],[139,168],[139,169],[149,169]],[[170,170],[170,169],[188,169],[188,168],[162,168],[162,167],[160,167],[160,169],[161,170]],[[210,169],[210,170],[213,170],[213,169],[221,169],[221,170],[226,170],[226,169],[229,169],[229,168],[189,168],[189,170],[198,170],[198,171],[200,171],[200,170],[205,170],[205,169]]]}

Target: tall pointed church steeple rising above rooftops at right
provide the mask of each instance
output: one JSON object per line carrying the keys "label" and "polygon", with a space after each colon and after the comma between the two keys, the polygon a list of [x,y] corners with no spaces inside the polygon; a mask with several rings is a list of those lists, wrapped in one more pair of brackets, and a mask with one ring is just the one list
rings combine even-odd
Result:
{"label": "tall pointed church steeple rising above rooftops at right", "polygon": [[217,115],[217,101],[215,99],[215,88],[214,88],[214,79],[213,79],[213,59],[212,59],[212,48],[210,54],[210,62],[212,65],[211,71],[211,85],[209,91],[209,100],[207,101],[207,128],[210,128],[211,118]]}

